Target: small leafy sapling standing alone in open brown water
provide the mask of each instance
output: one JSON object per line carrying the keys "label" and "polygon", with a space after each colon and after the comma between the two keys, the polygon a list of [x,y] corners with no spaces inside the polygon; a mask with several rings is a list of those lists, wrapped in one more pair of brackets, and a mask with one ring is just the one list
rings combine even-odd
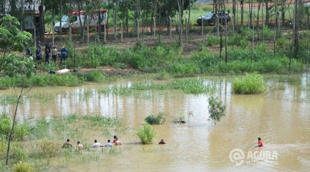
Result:
{"label": "small leafy sapling standing alone in open brown water", "polygon": [[215,125],[216,121],[219,121],[221,117],[225,116],[226,107],[217,97],[214,98],[213,96],[209,97],[208,103],[209,118],[214,121]]}

